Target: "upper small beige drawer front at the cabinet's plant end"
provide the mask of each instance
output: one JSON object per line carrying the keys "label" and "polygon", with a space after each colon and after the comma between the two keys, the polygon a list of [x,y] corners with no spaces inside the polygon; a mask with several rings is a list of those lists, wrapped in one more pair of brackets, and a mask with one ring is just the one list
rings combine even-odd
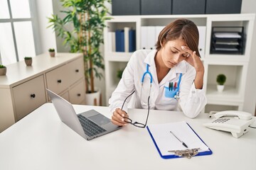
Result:
{"label": "upper small beige drawer front at the cabinet's plant end", "polygon": [[81,79],[85,72],[84,72],[84,64],[83,64],[83,59],[80,57],[79,59],[68,63],[68,81],[69,81],[69,86],[74,84],[76,81]]}

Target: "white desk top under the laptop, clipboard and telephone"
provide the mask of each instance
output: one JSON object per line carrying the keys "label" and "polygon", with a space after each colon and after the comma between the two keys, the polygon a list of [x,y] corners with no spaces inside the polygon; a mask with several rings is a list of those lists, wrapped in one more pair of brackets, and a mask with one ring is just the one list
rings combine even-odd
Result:
{"label": "white desk top under the laptop, clipboard and telephone", "polygon": [[[111,116],[107,107],[75,106],[77,113],[91,108]],[[129,116],[144,122],[146,110],[130,110]],[[181,120],[191,125],[212,155],[162,159],[146,128],[133,125],[87,141],[63,124],[53,105],[46,103],[1,132],[0,169],[256,169],[255,129],[236,139],[228,132],[204,128],[207,115],[189,119],[170,111],[150,111],[148,125]]]}

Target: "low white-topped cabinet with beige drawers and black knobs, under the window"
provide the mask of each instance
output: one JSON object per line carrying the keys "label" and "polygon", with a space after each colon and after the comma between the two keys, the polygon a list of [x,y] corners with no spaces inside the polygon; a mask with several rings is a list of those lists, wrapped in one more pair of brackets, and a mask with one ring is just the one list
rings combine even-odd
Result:
{"label": "low white-topped cabinet with beige drawers and black knobs, under the window", "polygon": [[0,76],[0,132],[48,102],[46,88],[70,103],[85,101],[82,54],[46,53],[33,57],[31,67],[24,61],[6,67],[6,76]]}

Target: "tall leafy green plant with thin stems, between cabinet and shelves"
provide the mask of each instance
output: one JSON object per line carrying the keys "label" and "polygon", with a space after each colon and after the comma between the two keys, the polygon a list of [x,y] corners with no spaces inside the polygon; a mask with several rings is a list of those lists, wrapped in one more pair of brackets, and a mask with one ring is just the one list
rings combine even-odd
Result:
{"label": "tall leafy green plant with thin stems, between cabinet and shelves", "polygon": [[[103,57],[100,53],[100,45],[103,43],[103,28],[107,17],[108,8],[105,2],[110,0],[60,0],[64,11],[64,18],[52,15],[48,18],[50,26],[63,39],[63,44],[70,47],[70,52],[82,52],[85,67],[85,91],[94,94],[94,79],[102,78],[100,69],[104,69]],[[68,30],[66,26],[72,26]],[[92,103],[95,98],[92,97]],[[97,99],[100,101],[100,98]],[[86,101],[87,102],[87,101]]]}

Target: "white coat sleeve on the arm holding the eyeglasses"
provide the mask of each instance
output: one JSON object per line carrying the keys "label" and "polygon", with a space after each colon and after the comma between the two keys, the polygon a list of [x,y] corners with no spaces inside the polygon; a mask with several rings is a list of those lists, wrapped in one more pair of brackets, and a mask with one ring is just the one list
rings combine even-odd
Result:
{"label": "white coat sleeve on the arm holding the eyeglasses", "polygon": [[[116,108],[122,108],[124,99],[134,91],[134,63],[136,63],[136,52],[133,53],[129,60],[127,67],[122,74],[122,79],[120,79],[117,88],[114,90],[109,100],[111,113],[113,113]],[[126,103],[124,103],[123,111],[127,112],[127,103],[129,103],[131,97],[132,96],[127,98]]]}

